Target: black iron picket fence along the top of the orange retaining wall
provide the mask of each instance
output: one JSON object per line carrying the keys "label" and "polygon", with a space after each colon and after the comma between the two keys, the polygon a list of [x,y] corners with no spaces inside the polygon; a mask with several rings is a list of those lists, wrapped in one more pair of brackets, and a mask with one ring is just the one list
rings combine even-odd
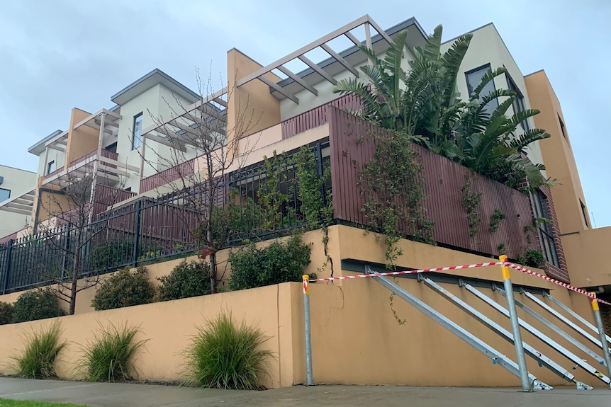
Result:
{"label": "black iron picket fence along the top of the orange retaining wall", "polygon": [[[318,176],[330,166],[329,143],[312,147]],[[272,190],[273,189],[273,190]],[[330,180],[320,191],[327,199]],[[215,233],[227,246],[269,239],[306,224],[298,199],[293,154],[282,154],[229,173],[215,191]],[[143,198],[96,215],[90,224],[43,228],[0,244],[0,292],[6,294],[72,277],[135,267],[201,248],[196,229],[206,214],[206,188]],[[194,196],[195,195],[195,196]]]}

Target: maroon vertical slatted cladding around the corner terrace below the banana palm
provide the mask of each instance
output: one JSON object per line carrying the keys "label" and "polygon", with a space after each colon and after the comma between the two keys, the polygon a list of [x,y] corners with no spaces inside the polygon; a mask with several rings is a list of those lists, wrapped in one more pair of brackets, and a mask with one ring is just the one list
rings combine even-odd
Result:
{"label": "maroon vertical slatted cladding around the corner terrace below the banana palm", "polygon": [[[360,120],[334,107],[327,108],[331,147],[331,183],[335,218],[366,225],[361,207],[364,197],[358,185],[360,167],[375,154],[376,143],[368,134],[385,130]],[[357,142],[358,140],[358,142]],[[433,239],[444,246],[452,246],[497,256],[500,243],[505,244],[505,254],[515,259],[526,253],[525,226],[532,222],[529,199],[526,195],[507,186],[479,176],[464,166],[443,156],[413,144],[420,154],[424,169],[424,206],[427,216],[435,222]],[[476,236],[469,236],[466,210],[462,204],[462,187],[466,176],[471,181],[471,193],[481,193],[481,204],[477,211],[481,224]],[[506,218],[497,231],[488,227],[495,210]],[[407,233],[407,230],[403,230]]]}

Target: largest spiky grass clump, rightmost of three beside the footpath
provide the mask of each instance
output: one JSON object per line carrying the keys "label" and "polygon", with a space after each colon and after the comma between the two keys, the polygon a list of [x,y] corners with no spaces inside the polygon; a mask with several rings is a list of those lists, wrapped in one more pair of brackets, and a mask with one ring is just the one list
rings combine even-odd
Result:
{"label": "largest spiky grass clump, rightmost of three beside the footpath", "polygon": [[259,347],[267,338],[259,328],[244,321],[235,325],[231,314],[206,321],[185,351],[188,384],[217,389],[259,389],[259,378],[267,374],[269,350]]}

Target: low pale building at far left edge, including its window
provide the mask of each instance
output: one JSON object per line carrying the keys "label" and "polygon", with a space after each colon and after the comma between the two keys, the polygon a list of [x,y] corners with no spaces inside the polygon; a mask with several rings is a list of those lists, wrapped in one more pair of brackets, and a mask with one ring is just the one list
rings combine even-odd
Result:
{"label": "low pale building at far left edge, including its window", "polygon": [[17,231],[30,224],[28,194],[35,183],[36,173],[0,165],[0,237],[16,237]]}

